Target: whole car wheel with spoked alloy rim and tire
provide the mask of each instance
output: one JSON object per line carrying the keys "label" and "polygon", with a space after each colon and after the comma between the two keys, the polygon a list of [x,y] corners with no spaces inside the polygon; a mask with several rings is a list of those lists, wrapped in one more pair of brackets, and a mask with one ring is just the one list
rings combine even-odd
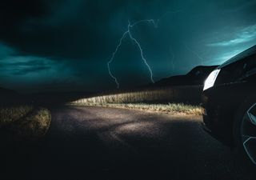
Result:
{"label": "whole car wheel with spoked alloy rim and tire", "polygon": [[238,154],[256,166],[256,98],[248,98],[235,115],[234,142]]}

